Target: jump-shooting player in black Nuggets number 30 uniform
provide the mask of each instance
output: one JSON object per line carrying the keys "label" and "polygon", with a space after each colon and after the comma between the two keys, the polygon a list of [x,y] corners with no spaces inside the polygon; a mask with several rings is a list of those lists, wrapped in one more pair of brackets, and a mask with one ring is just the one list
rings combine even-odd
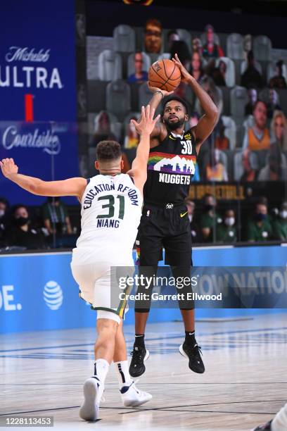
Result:
{"label": "jump-shooting player in black Nuggets number 30 uniform", "polygon": [[[186,101],[177,96],[169,96],[163,101],[162,122],[155,125],[148,157],[148,178],[144,186],[144,207],[139,225],[137,247],[140,249],[139,270],[146,277],[153,277],[161,260],[162,246],[165,247],[165,263],[172,267],[175,279],[191,277],[191,230],[184,199],[189,194],[191,178],[196,168],[200,146],[210,135],[217,123],[218,111],[210,96],[187,72],[177,54],[172,59],[181,70],[181,80],[187,82],[200,101],[205,114],[198,125],[184,130],[189,120]],[[157,108],[162,99],[170,93],[151,87],[154,92],[151,107]],[[150,293],[147,286],[140,286],[137,292]],[[192,292],[191,285],[177,292]],[[141,296],[143,297],[143,296]],[[184,296],[186,298],[186,296]],[[136,301],[135,341],[129,374],[139,377],[146,368],[144,361],[149,352],[144,344],[146,321],[151,300]],[[179,347],[183,356],[189,358],[189,368],[195,373],[204,373],[200,356],[200,346],[196,343],[194,326],[194,304],[192,301],[179,301],[184,320],[185,340]]]}

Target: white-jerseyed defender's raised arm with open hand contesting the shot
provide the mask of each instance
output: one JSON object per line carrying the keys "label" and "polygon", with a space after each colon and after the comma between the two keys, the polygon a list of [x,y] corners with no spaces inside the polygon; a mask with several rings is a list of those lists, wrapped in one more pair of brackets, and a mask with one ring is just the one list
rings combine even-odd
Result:
{"label": "white-jerseyed defender's raised arm with open hand contesting the shot", "polygon": [[150,137],[153,128],[155,127],[155,123],[160,118],[158,115],[153,119],[153,115],[155,114],[155,108],[151,108],[151,106],[142,106],[141,108],[141,120],[137,123],[135,120],[131,120],[134,125],[139,130],[141,135],[141,139],[139,141],[139,145],[136,149],[136,157],[132,162],[132,169],[129,170],[128,174],[134,178],[134,184],[136,187],[143,192],[144,183],[146,182],[146,167],[148,164],[148,154],[150,151]]}

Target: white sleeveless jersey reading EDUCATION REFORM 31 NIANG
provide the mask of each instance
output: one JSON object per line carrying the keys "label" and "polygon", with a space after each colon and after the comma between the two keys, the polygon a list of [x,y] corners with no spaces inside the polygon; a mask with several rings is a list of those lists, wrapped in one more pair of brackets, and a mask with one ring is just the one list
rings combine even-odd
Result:
{"label": "white sleeveless jersey reading EDUCATION REFORM 31 NIANG", "polygon": [[82,196],[82,232],[77,247],[95,249],[105,256],[113,251],[131,255],[142,203],[129,175],[92,177]]}

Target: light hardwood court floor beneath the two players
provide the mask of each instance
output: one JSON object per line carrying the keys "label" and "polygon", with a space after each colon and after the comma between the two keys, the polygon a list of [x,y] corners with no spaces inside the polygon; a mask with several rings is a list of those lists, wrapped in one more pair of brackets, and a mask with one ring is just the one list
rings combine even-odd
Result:
{"label": "light hardwood court floor beneath the two players", "polygon": [[[231,431],[266,422],[286,403],[287,314],[199,321],[203,375],[179,354],[182,332],[178,322],[148,325],[151,357],[137,385],[153,399],[123,407],[112,366],[94,424],[78,416],[93,370],[93,328],[0,335],[0,415],[50,415],[61,430]],[[125,334],[131,351],[133,327]]]}

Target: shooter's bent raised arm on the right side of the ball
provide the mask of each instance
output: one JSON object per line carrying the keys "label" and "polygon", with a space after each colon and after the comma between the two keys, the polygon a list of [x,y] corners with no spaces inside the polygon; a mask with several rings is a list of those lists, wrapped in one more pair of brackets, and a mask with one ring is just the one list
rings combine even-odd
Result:
{"label": "shooter's bent raised arm on the right side of the ball", "polygon": [[205,114],[198,121],[198,124],[192,128],[196,138],[196,152],[198,153],[200,146],[215,128],[218,120],[218,109],[208,93],[205,92],[202,87],[200,87],[196,79],[191,76],[190,73],[188,73],[186,68],[184,68],[184,65],[181,63],[181,61],[179,61],[177,54],[175,54],[174,58],[172,58],[172,61],[179,67],[181,71],[181,78],[191,86],[193,92],[195,92],[198,100],[200,101],[203,111],[205,112]]}

